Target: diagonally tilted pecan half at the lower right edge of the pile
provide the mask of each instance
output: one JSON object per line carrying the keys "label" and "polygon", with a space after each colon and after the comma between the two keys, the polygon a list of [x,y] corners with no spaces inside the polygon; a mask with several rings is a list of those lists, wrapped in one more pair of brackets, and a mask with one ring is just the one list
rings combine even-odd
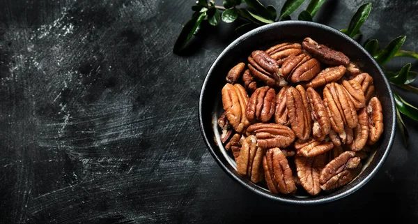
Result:
{"label": "diagonally tilted pecan half at the lower right edge of the pile", "polygon": [[357,175],[357,167],[361,167],[360,158],[354,151],[344,151],[320,172],[320,188],[328,191],[348,184]]}

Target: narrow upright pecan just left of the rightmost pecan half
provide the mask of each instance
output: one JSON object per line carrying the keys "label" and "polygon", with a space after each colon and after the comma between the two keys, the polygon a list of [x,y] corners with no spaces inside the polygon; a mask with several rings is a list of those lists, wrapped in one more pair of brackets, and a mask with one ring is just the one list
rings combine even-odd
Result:
{"label": "narrow upright pecan just left of the rightmost pecan half", "polygon": [[353,151],[362,150],[369,138],[369,114],[367,114],[365,107],[359,110],[357,117],[359,118],[359,124],[353,128],[354,140],[348,145]]}

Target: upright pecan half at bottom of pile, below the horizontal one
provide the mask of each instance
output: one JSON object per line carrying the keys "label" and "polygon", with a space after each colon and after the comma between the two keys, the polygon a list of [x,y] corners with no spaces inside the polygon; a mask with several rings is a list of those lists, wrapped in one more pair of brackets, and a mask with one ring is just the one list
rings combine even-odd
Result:
{"label": "upright pecan half at bottom of pile, below the horizontal one", "polygon": [[287,194],[296,191],[291,167],[279,148],[268,149],[263,157],[263,168],[265,181],[272,193]]}

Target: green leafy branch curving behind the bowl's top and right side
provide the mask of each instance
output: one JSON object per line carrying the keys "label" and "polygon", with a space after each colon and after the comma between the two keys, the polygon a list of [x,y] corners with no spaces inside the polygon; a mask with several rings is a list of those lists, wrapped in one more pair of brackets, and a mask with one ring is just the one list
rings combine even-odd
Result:
{"label": "green leafy branch curving behind the bowl's top and right side", "polygon": [[[306,10],[303,10],[297,17],[297,20],[305,20],[313,22],[313,17],[316,15],[325,0],[311,0]],[[185,24],[183,30],[180,32],[176,43],[173,47],[174,53],[179,53],[183,47],[187,45],[193,35],[199,31],[201,23],[207,21],[212,26],[217,26],[222,20],[226,23],[235,22],[238,18],[245,20],[246,23],[236,28],[235,31],[249,31],[256,27],[279,22],[284,20],[292,20],[291,14],[302,6],[304,0],[287,0],[281,7],[280,14],[277,15],[277,10],[274,6],[264,6],[258,0],[225,0],[224,6],[216,6],[213,0],[198,0],[196,5],[192,6],[194,11],[192,18]],[[247,8],[244,8],[247,5]],[[239,6],[239,7],[238,7]],[[371,13],[371,3],[364,3],[357,9],[348,24],[347,29],[341,29],[341,32],[356,38],[362,35],[360,28],[364,21]],[[403,43],[405,43],[406,36],[398,36],[390,41],[384,48],[380,48],[378,40],[369,38],[363,43],[364,48],[371,54],[371,56],[378,62],[380,68],[384,71],[389,83],[391,84],[394,93],[394,100],[396,102],[396,117],[398,128],[401,130],[403,142],[405,147],[408,147],[409,134],[407,126],[403,121],[403,116],[409,117],[418,121],[418,108],[405,101],[395,91],[393,87],[398,87],[406,91],[418,94],[418,88],[410,85],[417,73],[410,70],[411,63],[406,64],[398,71],[387,70],[385,65],[394,57],[412,57],[418,59],[418,53],[414,51],[401,50]]]}

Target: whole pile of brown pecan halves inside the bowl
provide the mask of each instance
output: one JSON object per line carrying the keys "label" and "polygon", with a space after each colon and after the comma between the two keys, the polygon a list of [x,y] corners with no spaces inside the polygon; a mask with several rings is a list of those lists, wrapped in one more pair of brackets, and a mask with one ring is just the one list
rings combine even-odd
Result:
{"label": "whole pile of brown pecan halves inside the bowl", "polygon": [[373,77],[311,38],[254,50],[225,80],[220,140],[237,172],[271,193],[350,183],[383,133]]}

